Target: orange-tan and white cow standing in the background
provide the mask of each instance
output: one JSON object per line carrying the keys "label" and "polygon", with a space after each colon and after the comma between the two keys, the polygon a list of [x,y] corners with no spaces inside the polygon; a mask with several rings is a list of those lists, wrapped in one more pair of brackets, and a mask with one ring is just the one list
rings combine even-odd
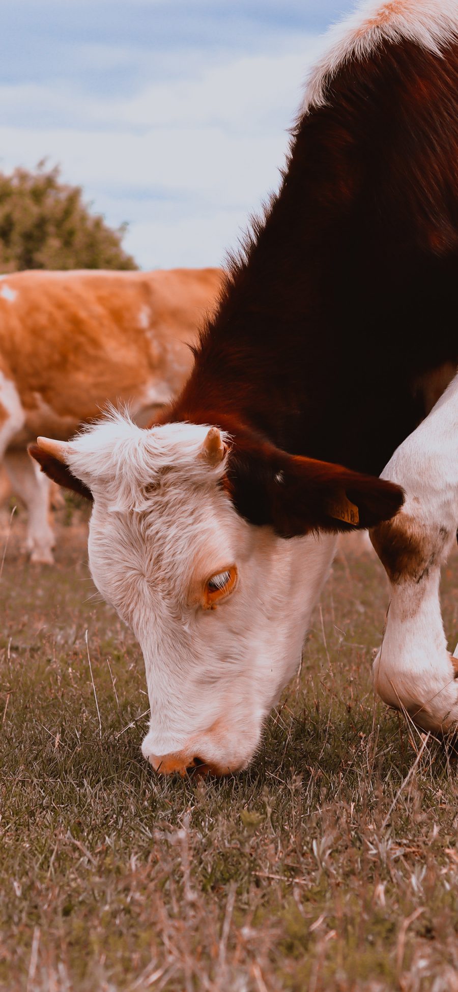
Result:
{"label": "orange-tan and white cow standing in the background", "polygon": [[219,269],[0,277],[0,461],[28,509],[32,561],[53,562],[54,534],[48,479],[28,443],[69,437],[107,401],[148,423],[188,375],[221,278]]}

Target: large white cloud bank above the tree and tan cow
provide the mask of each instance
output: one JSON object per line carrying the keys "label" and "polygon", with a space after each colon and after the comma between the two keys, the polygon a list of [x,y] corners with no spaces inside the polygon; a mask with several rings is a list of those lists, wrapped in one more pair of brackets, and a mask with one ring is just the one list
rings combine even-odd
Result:
{"label": "large white cloud bank above the tree and tan cow", "polygon": [[1,168],[49,156],[108,223],[130,221],[125,245],[143,267],[219,264],[279,185],[286,128],[319,46],[304,35],[275,56],[232,55],[186,77],[177,66],[177,77],[127,97],[0,86]]}

